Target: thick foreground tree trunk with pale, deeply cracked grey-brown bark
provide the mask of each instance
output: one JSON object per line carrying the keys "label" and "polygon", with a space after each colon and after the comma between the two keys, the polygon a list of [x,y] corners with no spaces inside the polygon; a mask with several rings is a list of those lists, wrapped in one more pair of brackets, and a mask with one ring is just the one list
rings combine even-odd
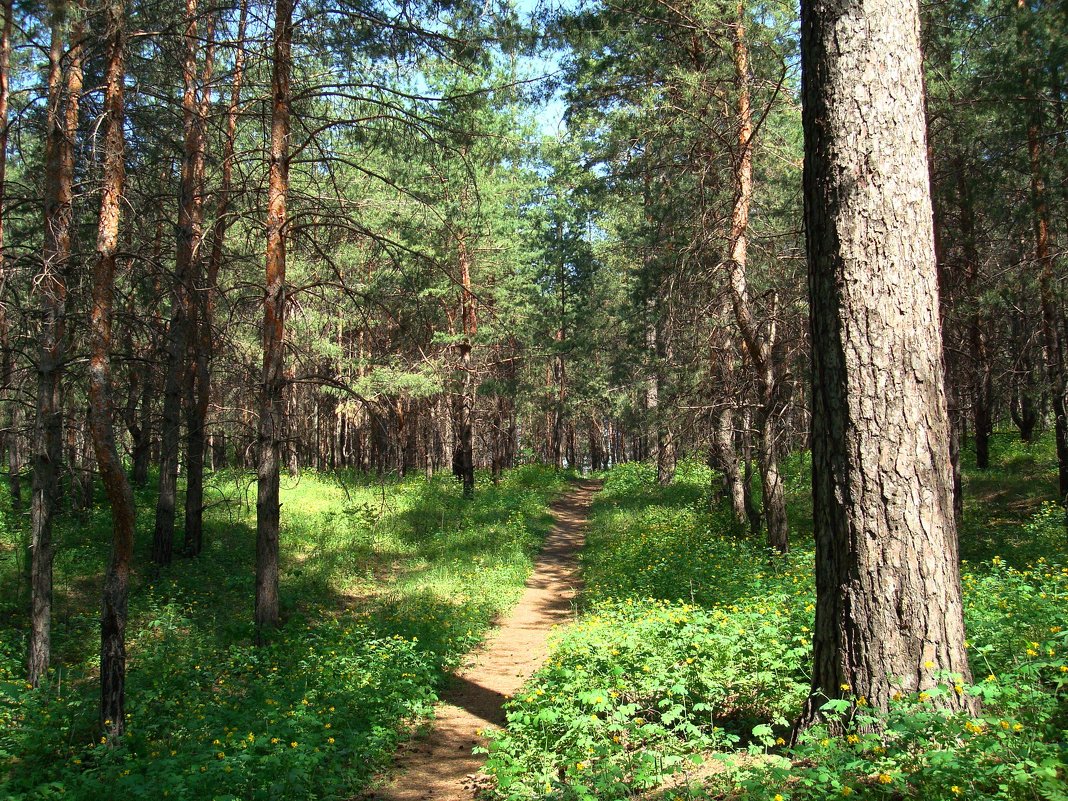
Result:
{"label": "thick foreground tree trunk with pale, deeply cracked grey-brown bark", "polygon": [[970,675],[916,3],[806,1],[801,52],[817,593],[804,725],[828,698],[884,709]]}

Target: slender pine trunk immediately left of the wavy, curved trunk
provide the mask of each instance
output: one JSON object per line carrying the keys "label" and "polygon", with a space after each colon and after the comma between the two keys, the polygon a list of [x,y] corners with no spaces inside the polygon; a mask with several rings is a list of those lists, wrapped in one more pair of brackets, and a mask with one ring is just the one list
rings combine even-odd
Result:
{"label": "slender pine trunk immediately left of the wavy, curved trunk", "polygon": [[[72,26],[66,87],[63,87],[63,31],[66,4],[52,6],[48,59],[48,117],[45,141],[45,245],[43,269],[34,281],[42,312],[37,351],[37,409],[33,435],[33,497],[30,506],[30,645],[29,681],[34,687],[48,670],[51,649],[52,516],[63,457],[63,399],[60,378],[66,358],[67,276],[74,217],[74,138],[81,96],[79,20]],[[64,97],[65,93],[65,97]]]}

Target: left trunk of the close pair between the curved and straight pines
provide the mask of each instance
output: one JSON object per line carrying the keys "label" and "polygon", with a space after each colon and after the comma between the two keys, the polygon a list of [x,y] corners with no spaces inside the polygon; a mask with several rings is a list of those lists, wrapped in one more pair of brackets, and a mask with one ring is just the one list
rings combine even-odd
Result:
{"label": "left trunk of the close pair between the curved and straight pines", "polygon": [[168,329],[167,374],[159,446],[159,498],[152,559],[169,565],[174,555],[174,517],[178,489],[182,395],[187,370],[189,330],[195,325],[193,304],[197,262],[201,257],[204,201],[204,132],[197,100],[197,0],[186,0],[185,58],[182,65],[184,135],[175,250],[174,305]]}

